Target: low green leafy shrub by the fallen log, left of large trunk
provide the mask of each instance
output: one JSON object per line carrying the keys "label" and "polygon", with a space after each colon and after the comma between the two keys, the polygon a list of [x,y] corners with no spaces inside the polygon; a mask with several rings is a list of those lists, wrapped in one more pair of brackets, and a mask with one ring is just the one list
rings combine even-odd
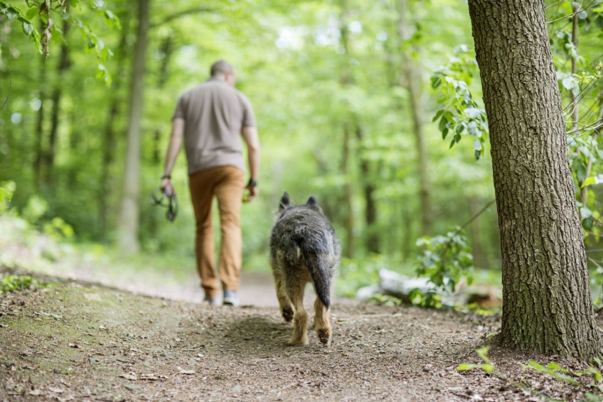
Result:
{"label": "low green leafy shrub by the fallen log, left of large trunk", "polygon": [[421,237],[417,247],[421,249],[415,260],[417,276],[427,277],[451,293],[459,281],[473,281],[473,255],[463,229],[457,227],[445,236]]}

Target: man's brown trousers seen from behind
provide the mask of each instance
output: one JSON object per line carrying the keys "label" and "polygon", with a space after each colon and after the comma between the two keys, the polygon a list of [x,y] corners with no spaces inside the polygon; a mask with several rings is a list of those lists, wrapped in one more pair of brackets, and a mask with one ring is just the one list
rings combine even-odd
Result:
{"label": "man's brown trousers seen from behind", "polygon": [[244,173],[233,166],[219,166],[189,176],[192,205],[197,220],[195,254],[197,270],[205,295],[215,297],[219,290],[215,272],[212,201],[218,199],[222,241],[219,255],[219,278],[223,289],[238,290],[241,284],[242,235],[241,204]]}

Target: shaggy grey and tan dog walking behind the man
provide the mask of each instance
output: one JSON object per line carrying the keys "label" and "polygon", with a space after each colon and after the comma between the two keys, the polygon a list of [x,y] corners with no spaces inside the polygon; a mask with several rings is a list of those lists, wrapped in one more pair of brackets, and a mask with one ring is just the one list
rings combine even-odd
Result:
{"label": "shaggy grey and tan dog walking behind the man", "polygon": [[270,264],[280,311],[286,322],[293,320],[288,345],[308,344],[308,313],[303,307],[308,282],[314,284],[317,295],[314,329],[320,342],[330,345],[330,296],[339,260],[339,239],[314,197],[303,205],[292,205],[285,192],[270,236]]}

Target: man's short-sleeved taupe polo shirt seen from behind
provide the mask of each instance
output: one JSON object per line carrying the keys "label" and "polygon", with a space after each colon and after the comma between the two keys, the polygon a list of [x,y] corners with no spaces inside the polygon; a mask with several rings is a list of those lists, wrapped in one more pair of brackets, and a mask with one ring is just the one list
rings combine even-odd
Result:
{"label": "man's short-sleeved taupe polo shirt seen from behind", "polygon": [[188,173],[216,166],[245,171],[241,129],[256,126],[251,103],[226,81],[210,78],[185,91],[172,120],[185,120]]}

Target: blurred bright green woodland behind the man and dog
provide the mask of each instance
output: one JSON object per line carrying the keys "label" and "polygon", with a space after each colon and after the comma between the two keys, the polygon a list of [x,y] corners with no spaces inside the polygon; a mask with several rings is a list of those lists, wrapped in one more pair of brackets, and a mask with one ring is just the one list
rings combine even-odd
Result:
{"label": "blurred bright green woodland behind the man and dog", "polygon": [[[144,269],[194,270],[184,155],[172,172],[174,222],[149,194],[160,183],[178,95],[226,59],[254,106],[262,145],[260,197],[242,209],[244,270],[269,270],[270,228],[286,190],[298,203],[314,195],[332,220],[346,257],[342,294],[375,282],[384,267],[456,282],[475,266],[479,281],[500,282],[488,130],[465,2],[50,4],[54,30],[45,45],[48,18],[38,2],[0,1],[5,241],[27,245],[27,232],[40,230],[70,244],[58,255],[83,250]],[[546,6],[599,287],[603,2]],[[128,138],[139,156],[128,152]],[[124,197],[139,207],[138,227],[120,226],[132,219],[123,215]],[[128,231],[136,247],[124,247]],[[15,259],[0,255],[7,266]]]}

